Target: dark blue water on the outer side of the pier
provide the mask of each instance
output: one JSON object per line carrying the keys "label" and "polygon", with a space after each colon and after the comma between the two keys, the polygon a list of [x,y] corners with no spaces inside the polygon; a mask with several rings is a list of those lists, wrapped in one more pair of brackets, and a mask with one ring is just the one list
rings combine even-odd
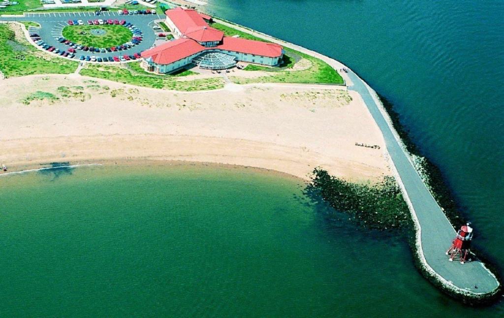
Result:
{"label": "dark blue water on the outer side of the pier", "polygon": [[215,15],[341,60],[393,102],[478,248],[504,268],[504,2],[209,2]]}

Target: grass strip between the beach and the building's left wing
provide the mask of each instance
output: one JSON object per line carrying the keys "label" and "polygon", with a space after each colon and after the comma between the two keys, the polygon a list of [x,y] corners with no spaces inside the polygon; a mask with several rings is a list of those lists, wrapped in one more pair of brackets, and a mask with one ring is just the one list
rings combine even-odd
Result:
{"label": "grass strip between the beach and the building's left wing", "polygon": [[176,75],[151,76],[150,74],[140,74],[121,67],[105,65],[87,65],[86,68],[81,70],[80,74],[124,84],[177,91],[213,90],[222,88],[225,84],[224,79],[220,77],[183,81]]}

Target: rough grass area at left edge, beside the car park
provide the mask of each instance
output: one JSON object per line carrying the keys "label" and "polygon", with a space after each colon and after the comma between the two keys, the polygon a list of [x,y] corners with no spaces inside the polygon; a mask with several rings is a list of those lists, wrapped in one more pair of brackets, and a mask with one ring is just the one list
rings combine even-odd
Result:
{"label": "rough grass area at left edge, beside the car park", "polygon": [[78,62],[53,57],[33,47],[25,38],[16,39],[7,24],[0,24],[0,71],[6,77],[32,74],[70,74]]}

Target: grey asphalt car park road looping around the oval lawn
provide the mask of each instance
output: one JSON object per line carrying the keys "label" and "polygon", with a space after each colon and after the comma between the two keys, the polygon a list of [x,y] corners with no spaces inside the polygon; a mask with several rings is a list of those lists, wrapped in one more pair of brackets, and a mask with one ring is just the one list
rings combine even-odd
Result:
{"label": "grey asphalt car park road looping around the oval lawn", "polygon": [[119,56],[119,55],[132,55],[137,52],[142,52],[149,49],[156,40],[156,34],[152,29],[152,25],[155,20],[165,19],[164,14],[155,15],[119,15],[117,11],[104,11],[100,16],[95,16],[92,12],[61,12],[61,13],[25,13],[24,17],[0,17],[0,21],[33,21],[40,24],[41,28],[39,30],[39,35],[44,42],[47,44],[59,48],[60,50],[67,50],[68,45],[61,44],[56,41],[56,38],[61,36],[61,30],[68,25],[68,20],[82,20],[84,24],[87,25],[87,20],[96,19],[117,19],[126,20],[127,22],[133,23],[142,31],[143,40],[140,44],[122,51],[116,52],[89,52],[83,50],[77,50],[76,57],[74,59],[79,59],[81,55],[95,55],[96,57],[108,57],[108,56]]}

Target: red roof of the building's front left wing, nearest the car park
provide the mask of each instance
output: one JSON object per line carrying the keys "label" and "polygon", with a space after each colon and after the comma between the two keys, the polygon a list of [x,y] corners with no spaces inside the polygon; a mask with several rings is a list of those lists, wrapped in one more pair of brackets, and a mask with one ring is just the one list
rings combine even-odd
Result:
{"label": "red roof of the building's front left wing, nearest the car park", "polygon": [[143,51],[141,55],[145,59],[152,57],[157,64],[169,64],[205,49],[192,39],[180,38]]}

